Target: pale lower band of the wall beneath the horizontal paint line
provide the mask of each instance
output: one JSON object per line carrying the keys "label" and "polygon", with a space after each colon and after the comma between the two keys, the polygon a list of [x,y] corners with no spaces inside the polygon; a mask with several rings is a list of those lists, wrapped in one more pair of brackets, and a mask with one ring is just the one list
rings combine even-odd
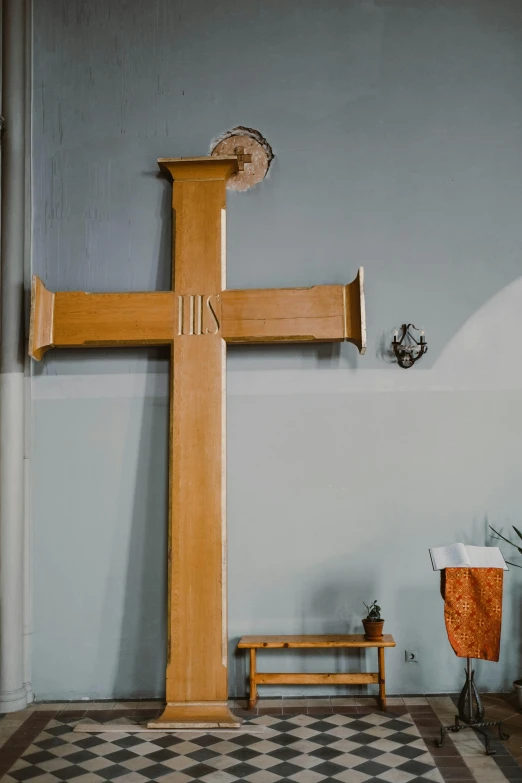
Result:
{"label": "pale lower band of the wall beneath the horizontal paint line", "polygon": [[[228,400],[230,692],[245,690],[240,635],[357,632],[374,598],[397,641],[389,692],[457,690],[427,550],[519,523],[522,391],[256,395],[246,383]],[[160,695],[167,400],[37,398],[34,411],[36,697]],[[485,690],[520,673],[520,575],[505,579],[501,660],[477,665]],[[342,660],[265,653],[260,665]]]}

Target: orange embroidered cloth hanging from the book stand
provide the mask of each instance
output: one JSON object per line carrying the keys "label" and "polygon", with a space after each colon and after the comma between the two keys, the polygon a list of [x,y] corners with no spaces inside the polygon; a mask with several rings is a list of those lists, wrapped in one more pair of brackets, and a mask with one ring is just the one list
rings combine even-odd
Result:
{"label": "orange embroidered cloth hanging from the book stand", "polygon": [[446,631],[460,658],[498,661],[503,580],[501,568],[441,571]]}

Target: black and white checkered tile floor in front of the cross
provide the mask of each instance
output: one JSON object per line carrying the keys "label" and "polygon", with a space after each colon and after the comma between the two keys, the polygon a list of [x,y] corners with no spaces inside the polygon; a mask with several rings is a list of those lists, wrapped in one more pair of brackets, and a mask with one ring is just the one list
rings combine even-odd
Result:
{"label": "black and white checkered tile floor in front of the cross", "polygon": [[[64,714],[65,718],[65,714]],[[4,783],[442,783],[409,715],[262,715],[262,734],[73,731],[52,720]]]}

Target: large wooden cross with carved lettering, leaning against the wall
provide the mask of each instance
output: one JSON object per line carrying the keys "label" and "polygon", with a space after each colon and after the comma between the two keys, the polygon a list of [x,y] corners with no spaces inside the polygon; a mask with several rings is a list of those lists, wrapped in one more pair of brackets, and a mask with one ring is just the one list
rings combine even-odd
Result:
{"label": "large wooden cross with carved lettering, leaning against the wall", "polygon": [[227,706],[226,345],[348,340],[364,353],[362,269],[349,285],[227,291],[238,155],[158,162],[174,182],[172,290],[52,293],[35,276],[29,353],[170,346],[167,706],[154,725],[238,726]]}

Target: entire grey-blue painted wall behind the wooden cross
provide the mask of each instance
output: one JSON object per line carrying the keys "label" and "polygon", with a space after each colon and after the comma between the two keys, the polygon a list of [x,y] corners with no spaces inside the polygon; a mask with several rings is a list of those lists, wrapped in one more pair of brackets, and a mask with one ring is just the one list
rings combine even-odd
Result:
{"label": "entire grey-blue painted wall behind the wooden cross", "polygon": [[[229,198],[228,286],[366,269],[365,357],[229,351],[231,693],[241,634],[358,631],[373,598],[398,643],[389,690],[460,686],[427,548],[521,523],[521,72],[516,0],[34,2],[33,271],[49,288],[168,288],[156,158],[237,124],[276,159]],[[382,350],[404,320],[430,343],[407,373]],[[33,371],[35,693],[159,695],[166,357],[54,352]],[[486,690],[520,674],[520,592],[512,569]],[[346,664],[325,658],[264,665]]]}

